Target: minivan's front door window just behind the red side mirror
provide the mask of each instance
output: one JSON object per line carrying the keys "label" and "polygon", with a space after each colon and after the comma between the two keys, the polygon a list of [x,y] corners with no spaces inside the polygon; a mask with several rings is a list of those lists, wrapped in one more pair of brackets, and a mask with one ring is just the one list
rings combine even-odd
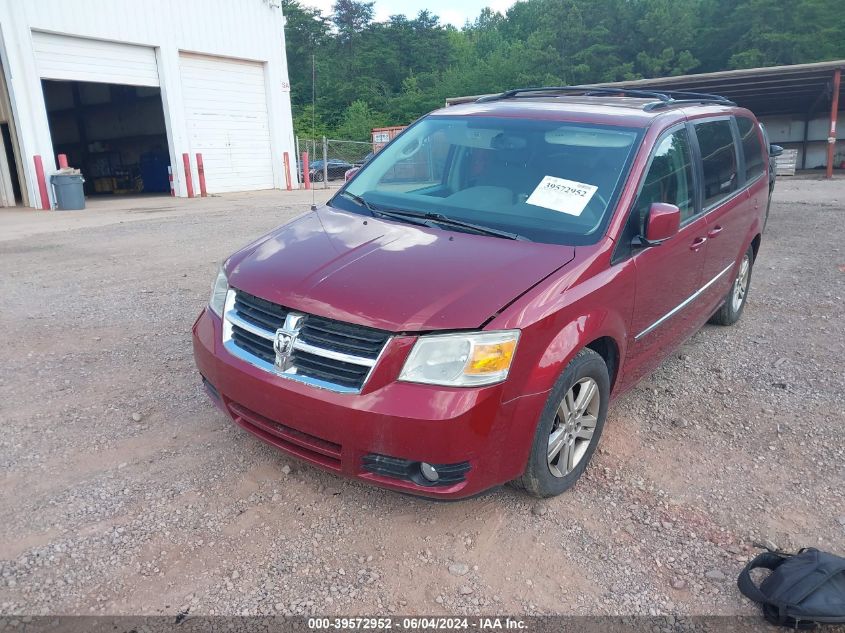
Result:
{"label": "minivan's front door window just behind the red side mirror", "polygon": [[637,198],[636,213],[642,234],[645,216],[654,202],[674,204],[681,210],[681,221],[695,213],[692,160],[686,129],[665,136],[657,144],[651,166]]}

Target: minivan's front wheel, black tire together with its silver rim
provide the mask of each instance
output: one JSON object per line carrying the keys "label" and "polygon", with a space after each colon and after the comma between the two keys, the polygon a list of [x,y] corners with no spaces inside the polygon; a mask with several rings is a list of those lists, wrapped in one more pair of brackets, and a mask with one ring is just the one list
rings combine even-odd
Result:
{"label": "minivan's front wheel, black tire together with its silver rim", "polygon": [[[579,403],[579,397],[589,397],[586,407],[582,406],[584,403]],[[516,487],[541,498],[554,497],[571,488],[596,450],[607,418],[609,400],[610,377],[604,359],[591,349],[582,349],[566,366],[552,389],[537,422],[525,472],[513,482]],[[568,416],[573,408],[576,409],[575,416]],[[581,415],[577,413],[579,409],[583,409]],[[592,425],[592,433],[587,438],[589,425]],[[557,452],[552,445],[554,434],[558,434],[555,444],[560,444]],[[549,458],[551,454],[552,459]],[[562,461],[567,457],[571,457],[569,462]]]}

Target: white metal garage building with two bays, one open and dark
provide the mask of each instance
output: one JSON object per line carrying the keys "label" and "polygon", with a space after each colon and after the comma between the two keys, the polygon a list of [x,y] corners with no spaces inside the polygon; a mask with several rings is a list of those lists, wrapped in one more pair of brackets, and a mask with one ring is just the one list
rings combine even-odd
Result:
{"label": "white metal garage building with two bays, one open and dark", "polygon": [[[280,0],[0,0],[0,206],[282,188],[294,137]],[[186,175],[187,155],[190,175]],[[296,179],[295,170],[291,170]]]}

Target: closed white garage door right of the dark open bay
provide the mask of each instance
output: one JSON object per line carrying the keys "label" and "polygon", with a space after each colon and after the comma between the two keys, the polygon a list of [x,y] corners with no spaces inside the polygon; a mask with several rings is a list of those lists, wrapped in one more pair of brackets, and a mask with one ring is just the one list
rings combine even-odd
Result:
{"label": "closed white garage door right of the dark open bay", "polygon": [[180,62],[191,152],[202,154],[208,191],[272,189],[264,66],[184,53]]}

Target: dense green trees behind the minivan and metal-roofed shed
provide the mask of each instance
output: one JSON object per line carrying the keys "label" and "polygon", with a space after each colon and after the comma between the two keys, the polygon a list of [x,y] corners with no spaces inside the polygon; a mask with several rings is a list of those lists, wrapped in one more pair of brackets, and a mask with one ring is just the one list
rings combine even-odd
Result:
{"label": "dense green trees behind the minivan and metal-roofed shed", "polygon": [[[304,3],[304,4],[303,4]],[[297,134],[369,139],[447,97],[845,57],[841,0],[522,0],[463,28],[421,11],[373,21],[373,2],[331,16],[283,0]]]}

